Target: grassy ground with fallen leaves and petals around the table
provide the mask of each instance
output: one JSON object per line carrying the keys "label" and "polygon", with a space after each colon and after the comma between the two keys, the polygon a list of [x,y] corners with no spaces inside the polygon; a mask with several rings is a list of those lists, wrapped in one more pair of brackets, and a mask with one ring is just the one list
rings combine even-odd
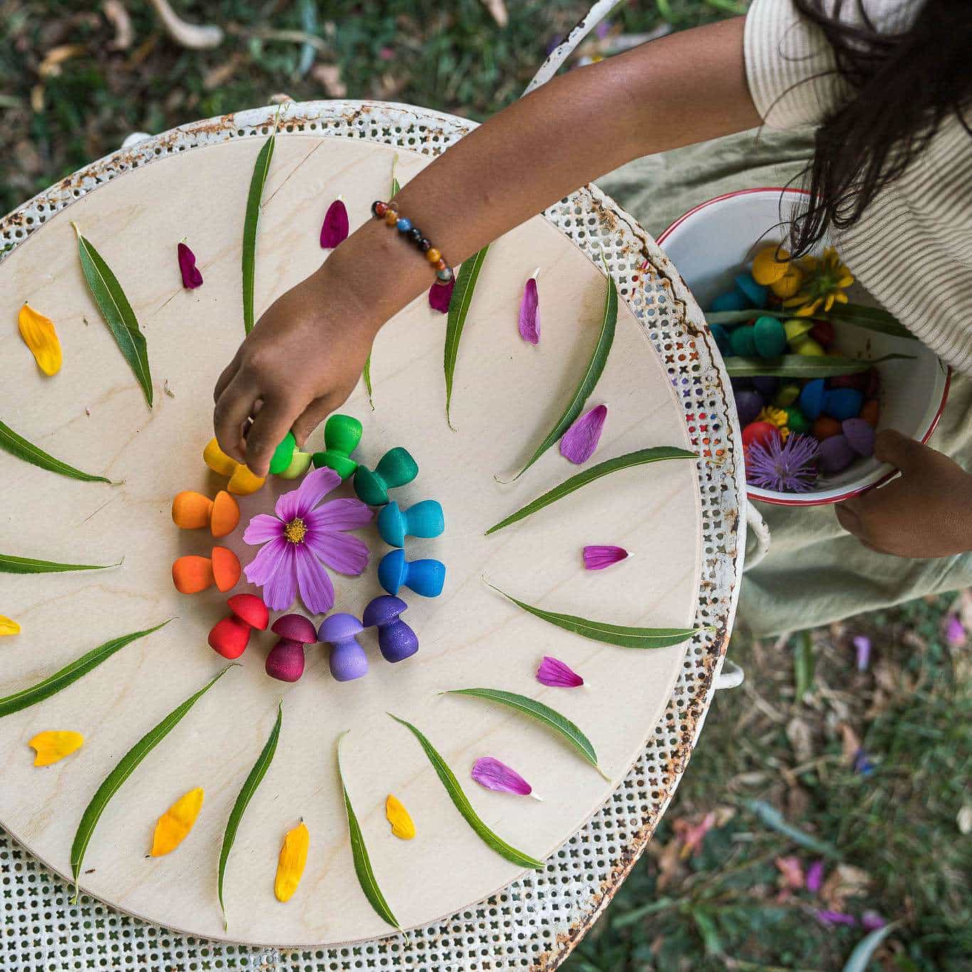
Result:
{"label": "grassy ground with fallen leaves and petals around the table", "polygon": [[[0,0],[0,211],[131,131],[281,90],[481,119],[518,95],[587,7],[516,0],[501,29],[480,0],[175,6],[220,23],[223,47],[173,45],[131,0]],[[611,29],[678,29],[737,6],[644,0]],[[840,969],[877,916],[892,929],[858,970],[969,968],[972,665],[961,625],[945,635],[955,609],[916,602],[786,642],[734,642],[746,683],[716,698],[655,840],[568,972]],[[863,671],[860,635],[873,643]]]}

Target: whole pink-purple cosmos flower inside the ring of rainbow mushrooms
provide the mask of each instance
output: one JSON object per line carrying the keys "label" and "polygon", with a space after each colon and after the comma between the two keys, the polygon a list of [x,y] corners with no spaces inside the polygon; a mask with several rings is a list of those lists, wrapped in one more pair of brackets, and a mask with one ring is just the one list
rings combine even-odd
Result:
{"label": "whole pink-purple cosmos flower inside the ring of rainbow mushrooms", "polygon": [[264,546],[245,573],[250,583],[263,588],[267,608],[287,610],[299,587],[305,607],[323,614],[334,606],[334,586],[325,565],[352,576],[367,567],[364,540],[343,531],[366,526],[371,510],[351,498],[318,506],[340,482],[333,469],[314,469],[297,489],[277,500],[276,515],[259,513],[250,521],[243,539]]}

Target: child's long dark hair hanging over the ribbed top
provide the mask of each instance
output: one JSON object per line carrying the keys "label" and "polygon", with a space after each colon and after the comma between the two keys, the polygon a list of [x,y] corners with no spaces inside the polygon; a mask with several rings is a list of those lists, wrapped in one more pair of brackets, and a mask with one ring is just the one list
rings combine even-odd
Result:
{"label": "child's long dark hair hanging over the ribbed top", "polygon": [[963,111],[972,99],[972,0],[925,0],[898,34],[879,31],[862,0],[851,2],[857,16],[842,19],[845,0],[794,0],[833,47],[837,73],[851,88],[816,129],[803,175],[810,202],[791,226],[794,256],[808,253],[831,226],[856,223],[950,115],[970,131]]}

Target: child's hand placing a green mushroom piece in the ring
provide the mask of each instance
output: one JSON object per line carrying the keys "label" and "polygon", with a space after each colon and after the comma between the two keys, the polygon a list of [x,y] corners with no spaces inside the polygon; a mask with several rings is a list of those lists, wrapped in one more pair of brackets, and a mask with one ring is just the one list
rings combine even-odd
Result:
{"label": "child's hand placing a green mushroom piece in the ring", "polygon": [[364,320],[348,289],[337,297],[320,274],[276,300],[216,385],[213,423],[226,455],[262,476],[289,431],[302,446],[358,382],[374,336]]}

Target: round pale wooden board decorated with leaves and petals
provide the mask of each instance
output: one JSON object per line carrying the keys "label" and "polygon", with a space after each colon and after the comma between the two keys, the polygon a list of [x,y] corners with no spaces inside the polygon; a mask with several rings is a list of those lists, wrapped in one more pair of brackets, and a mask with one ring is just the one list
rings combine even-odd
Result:
{"label": "round pale wooden board decorated with leaves and petals", "polygon": [[[69,214],[52,217],[0,264],[0,320],[8,322],[0,333],[0,418],[56,457],[124,480],[118,487],[76,482],[0,454],[0,551],[83,563],[124,558],[104,572],[3,575],[0,611],[23,630],[0,642],[0,696],[110,638],[176,618],[43,704],[0,720],[0,822],[61,874],[70,871],[75,829],[98,784],[129,746],[223,665],[206,635],[225,613],[224,596],[214,589],[183,597],[170,578],[175,557],[206,553],[212,539],[176,529],[169,506],[180,490],[212,495],[223,484],[200,453],[212,434],[213,385],[243,336],[240,241],[260,144],[226,141],[126,172],[78,199]],[[387,195],[393,155],[364,140],[278,136],[258,238],[258,314],[322,259],[321,220],[338,193],[352,229],[368,217],[372,199]],[[428,161],[399,150],[399,180]],[[88,294],[69,219],[114,269],[138,316],[155,382],[151,411]],[[186,236],[205,277],[192,292],[181,288],[175,259],[176,243]],[[537,265],[542,336],[534,348],[519,337],[516,314]],[[486,822],[538,857],[560,847],[609,798],[614,784],[537,723],[478,700],[437,695],[485,685],[538,698],[578,724],[616,783],[671,694],[682,646],[639,651],[583,640],[505,602],[482,579],[544,608],[615,623],[689,626],[695,616],[703,544],[694,463],[616,473],[483,536],[576,471],[555,448],[515,484],[494,478],[518,468],[561,412],[594,346],[605,289],[601,269],[540,217],[498,240],[459,352],[455,433],[444,417],[445,318],[423,297],[381,331],[373,351],[375,410],[362,384],[343,410],[364,423],[365,464],[373,466],[395,445],[415,456],[419,476],[398,491],[399,503],[434,498],[445,509],[442,537],[407,545],[410,558],[438,557],[448,570],[440,598],[405,592],[419,654],[388,665],[368,632],[371,671],[363,679],[333,681],[326,649],[317,645],[304,677],[286,685],[263,672],[272,637],[254,638],[241,667],[196,705],[109,804],[87,850],[82,888],[125,912],[208,938],[318,946],[388,933],[354,874],[334,759],[346,729],[348,788],[378,882],[402,927],[452,914],[516,878],[519,868],[479,841],[416,741],[386,712],[421,728]],[[24,300],[56,323],[64,366],[54,378],[38,372],[17,335]],[[690,446],[672,382],[623,300],[608,366],[589,405],[598,402],[608,404],[609,415],[597,459],[650,445]],[[319,430],[312,443],[320,437]],[[242,526],[291,486],[274,482],[241,502],[241,527],[226,545],[244,563],[254,549],[242,543]],[[388,549],[373,527],[360,535],[371,547],[371,566],[361,578],[333,578],[337,609],[356,614],[380,593],[374,565]],[[580,562],[586,543],[617,543],[633,556],[588,573]],[[544,654],[567,661],[590,687],[541,686],[534,673]],[[226,817],[280,698],[276,759],[229,858],[224,931],[216,875]],[[36,769],[26,744],[46,729],[78,730],[86,745]],[[518,769],[544,802],[469,781],[472,762],[483,755]],[[146,857],[156,817],[194,786],[205,788],[206,801],[190,837],[167,857]],[[384,817],[390,792],[415,819],[411,842],[390,833]],[[273,897],[273,876],[283,835],[299,817],[310,829],[310,855],[302,884],[284,905]]]}

